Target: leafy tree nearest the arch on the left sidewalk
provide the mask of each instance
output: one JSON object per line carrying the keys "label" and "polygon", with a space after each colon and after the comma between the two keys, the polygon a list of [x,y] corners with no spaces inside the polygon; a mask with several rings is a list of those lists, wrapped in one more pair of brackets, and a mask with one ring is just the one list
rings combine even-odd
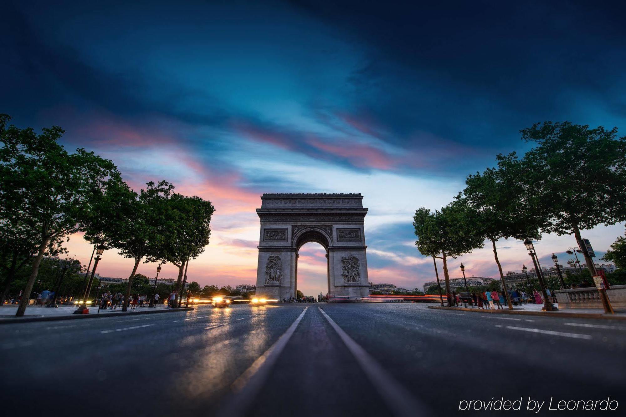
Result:
{"label": "leafy tree nearest the arch on the left sidewalk", "polygon": [[208,245],[211,216],[215,211],[210,201],[193,196],[172,194],[163,201],[162,223],[159,224],[160,248],[148,256],[151,261],[167,261],[178,267],[175,290],[178,291],[189,259],[196,258]]}

